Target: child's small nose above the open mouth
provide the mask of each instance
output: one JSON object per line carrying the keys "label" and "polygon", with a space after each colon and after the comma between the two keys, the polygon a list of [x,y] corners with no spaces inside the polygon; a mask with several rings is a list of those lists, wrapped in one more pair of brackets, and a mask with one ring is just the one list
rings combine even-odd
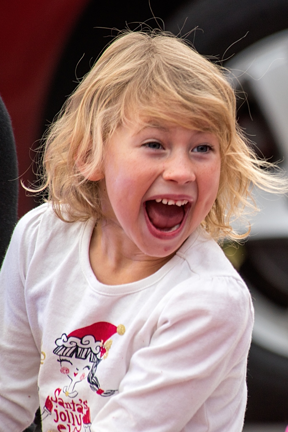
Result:
{"label": "child's small nose above the open mouth", "polygon": [[166,160],[162,176],[164,180],[186,184],[196,180],[194,168],[188,154],[178,152],[170,155]]}

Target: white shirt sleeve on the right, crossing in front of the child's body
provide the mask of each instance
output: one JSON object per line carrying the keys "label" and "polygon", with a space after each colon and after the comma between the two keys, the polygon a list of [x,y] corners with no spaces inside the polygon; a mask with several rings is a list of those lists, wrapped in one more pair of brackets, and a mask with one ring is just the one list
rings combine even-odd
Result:
{"label": "white shirt sleeve on the right, crossing in front of the child's body", "polygon": [[206,405],[207,422],[218,422],[209,430],[240,432],[252,326],[250,294],[240,280],[179,284],[150,345],[133,354],[119,394],[98,413],[91,431],[179,432]]}

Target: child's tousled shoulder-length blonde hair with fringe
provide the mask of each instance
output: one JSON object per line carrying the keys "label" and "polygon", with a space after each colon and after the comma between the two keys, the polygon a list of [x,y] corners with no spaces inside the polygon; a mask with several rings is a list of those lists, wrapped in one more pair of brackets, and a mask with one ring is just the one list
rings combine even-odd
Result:
{"label": "child's tousled shoulder-length blonde hair with fringe", "polygon": [[43,186],[38,191],[48,189],[48,201],[59,218],[67,222],[102,218],[99,181],[87,178],[101,172],[105,143],[117,127],[144,119],[218,137],[219,190],[202,222],[215,239],[244,237],[233,231],[231,220],[245,206],[253,207],[253,185],[287,190],[284,179],[267,172],[272,165],[257,159],[247,145],[236,122],[235,94],[225,71],[173,35],[129,31],[106,48],[47,134]]}

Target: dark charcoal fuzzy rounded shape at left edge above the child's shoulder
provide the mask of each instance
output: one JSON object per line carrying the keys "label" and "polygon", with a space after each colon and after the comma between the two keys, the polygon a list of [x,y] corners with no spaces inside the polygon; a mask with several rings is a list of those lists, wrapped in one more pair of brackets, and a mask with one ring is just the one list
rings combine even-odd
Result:
{"label": "dark charcoal fuzzy rounded shape at left edge above the child's shoulder", "polygon": [[17,222],[18,168],[11,121],[0,98],[0,267]]}

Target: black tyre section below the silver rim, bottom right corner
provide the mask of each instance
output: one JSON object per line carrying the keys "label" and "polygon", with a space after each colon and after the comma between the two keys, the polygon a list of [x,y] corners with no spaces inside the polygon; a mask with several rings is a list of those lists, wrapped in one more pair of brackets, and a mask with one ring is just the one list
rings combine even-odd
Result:
{"label": "black tyre section below the silver rim, bottom right corner", "polygon": [[[288,423],[288,359],[252,343],[247,367],[246,422]],[[284,429],[283,429],[284,430]]]}

